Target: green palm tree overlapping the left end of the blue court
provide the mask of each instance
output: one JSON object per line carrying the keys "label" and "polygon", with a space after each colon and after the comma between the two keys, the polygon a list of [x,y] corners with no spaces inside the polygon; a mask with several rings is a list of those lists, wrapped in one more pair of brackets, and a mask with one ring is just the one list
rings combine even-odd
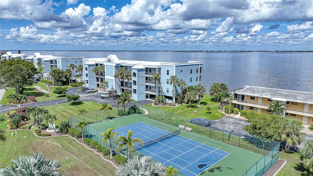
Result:
{"label": "green palm tree overlapping the left end of the blue court", "polygon": [[127,132],[127,137],[125,136],[118,136],[116,139],[116,143],[119,143],[116,151],[119,152],[121,151],[121,149],[127,145],[128,146],[128,159],[131,158],[131,152],[134,152],[134,143],[140,143],[141,145],[143,145],[143,142],[141,139],[139,138],[133,138],[133,131],[129,130]]}

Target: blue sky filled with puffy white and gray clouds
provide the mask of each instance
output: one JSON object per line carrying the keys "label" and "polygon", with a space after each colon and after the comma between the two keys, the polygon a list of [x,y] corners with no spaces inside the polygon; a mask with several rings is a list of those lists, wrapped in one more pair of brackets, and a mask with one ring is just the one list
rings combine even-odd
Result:
{"label": "blue sky filled with puffy white and gray clouds", "polygon": [[0,0],[0,50],[313,50],[313,0]]}

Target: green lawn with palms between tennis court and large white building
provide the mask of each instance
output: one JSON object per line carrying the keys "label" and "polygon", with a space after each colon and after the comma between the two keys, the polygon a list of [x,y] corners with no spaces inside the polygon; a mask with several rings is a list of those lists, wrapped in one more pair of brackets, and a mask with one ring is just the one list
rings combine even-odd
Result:
{"label": "green lawn with palms between tennis court and large white building", "polygon": [[[153,107],[152,105],[149,105]],[[206,113],[206,107],[210,107],[212,113]],[[153,108],[160,108],[160,107],[153,107]],[[220,108],[220,102],[214,102],[213,97],[209,94],[205,94],[203,98],[201,98],[201,106],[198,106],[198,101],[192,104],[192,109],[189,108],[189,105],[179,105],[178,107],[163,107],[162,110],[176,113],[179,115],[187,116],[190,118],[195,117],[203,117],[209,120],[218,120],[224,117],[224,114],[219,112],[218,109]]]}

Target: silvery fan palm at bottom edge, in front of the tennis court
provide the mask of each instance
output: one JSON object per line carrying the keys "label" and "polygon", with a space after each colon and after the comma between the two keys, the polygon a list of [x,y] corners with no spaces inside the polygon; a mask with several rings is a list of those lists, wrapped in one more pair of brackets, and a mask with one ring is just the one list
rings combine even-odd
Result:
{"label": "silvery fan palm at bottom edge, in front of the tennis court", "polygon": [[115,176],[164,176],[166,167],[160,162],[153,162],[151,156],[135,155],[115,170]]}

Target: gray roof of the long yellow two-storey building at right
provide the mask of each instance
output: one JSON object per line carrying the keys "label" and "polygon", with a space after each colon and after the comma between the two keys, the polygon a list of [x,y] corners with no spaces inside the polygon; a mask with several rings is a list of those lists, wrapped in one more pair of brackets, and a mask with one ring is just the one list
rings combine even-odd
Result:
{"label": "gray roof of the long yellow two-storey building at right", "polygon": [[245,88],[233,92],[243,95],[264,97],[268,99],[286,99],[286,101],[313,104],[313,93],[295,90],[284,90],[277,88],[263,88],[245,86]]}

